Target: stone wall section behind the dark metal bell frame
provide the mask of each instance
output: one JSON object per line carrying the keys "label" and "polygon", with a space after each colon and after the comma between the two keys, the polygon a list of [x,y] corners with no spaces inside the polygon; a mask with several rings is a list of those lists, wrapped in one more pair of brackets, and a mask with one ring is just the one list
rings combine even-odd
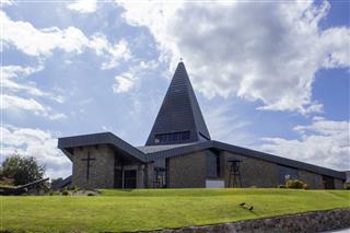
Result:
{"label": "stone wall section behind the dark metal bell frame", "polygon": [[[224,152],[224,163],[229,159],[241,160],[241,178],[242,187],[264,187],[264,188],[276,188],[279,185],[278,165],[275,163],[269,163],[264,160],[257,160],[248,156],[242,156],[238,154],[233,154],[230,152]],[[226,164],[223,166],[225,168],[224,176],[225,185],[229,187],[230,177],[230,166]]]}

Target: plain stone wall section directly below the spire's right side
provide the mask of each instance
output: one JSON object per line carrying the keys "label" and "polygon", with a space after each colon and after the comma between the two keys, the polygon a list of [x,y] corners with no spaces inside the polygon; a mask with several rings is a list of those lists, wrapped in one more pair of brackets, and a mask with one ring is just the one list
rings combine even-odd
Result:
{"label": "plain stone wall section directly below the spire's right side", "polygon": [[206,187],[206,153],[203,151],[168,159],[170,188]]}

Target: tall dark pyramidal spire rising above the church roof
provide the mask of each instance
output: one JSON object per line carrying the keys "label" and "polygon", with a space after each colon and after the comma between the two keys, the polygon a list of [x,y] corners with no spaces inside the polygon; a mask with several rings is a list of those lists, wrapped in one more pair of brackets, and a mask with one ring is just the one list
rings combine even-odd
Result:
{"label": "tall dark pyramidal spire rising above the church roof", "polygon": [[145,145],[210,140],[185,65],[177,65]]}

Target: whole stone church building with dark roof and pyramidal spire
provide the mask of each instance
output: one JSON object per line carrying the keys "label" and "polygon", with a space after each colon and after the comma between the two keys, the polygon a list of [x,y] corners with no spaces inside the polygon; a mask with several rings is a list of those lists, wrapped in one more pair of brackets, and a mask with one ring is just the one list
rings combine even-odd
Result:
{"label": "whole stone church building with dark roof and pyramidal spire", "polygon": [[112,132],[59,138],[83,188],[276,188],[289,178],[340,189],[346,173],[212,140],[184,62],[143,147]]}

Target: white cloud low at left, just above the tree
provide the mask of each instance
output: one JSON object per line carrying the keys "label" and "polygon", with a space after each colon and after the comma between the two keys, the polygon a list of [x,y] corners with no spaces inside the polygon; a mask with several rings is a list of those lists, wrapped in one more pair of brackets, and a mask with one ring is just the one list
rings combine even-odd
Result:
{"label": "white cloud low at left, just above the tree", "polygon": [[15,151],[23,156],[34,156],[47,168],[49,177],[66,177],[71,174],[70,161],[57,149],[57,138],[50,131],[37,128],[0,127],[1,158]]}

